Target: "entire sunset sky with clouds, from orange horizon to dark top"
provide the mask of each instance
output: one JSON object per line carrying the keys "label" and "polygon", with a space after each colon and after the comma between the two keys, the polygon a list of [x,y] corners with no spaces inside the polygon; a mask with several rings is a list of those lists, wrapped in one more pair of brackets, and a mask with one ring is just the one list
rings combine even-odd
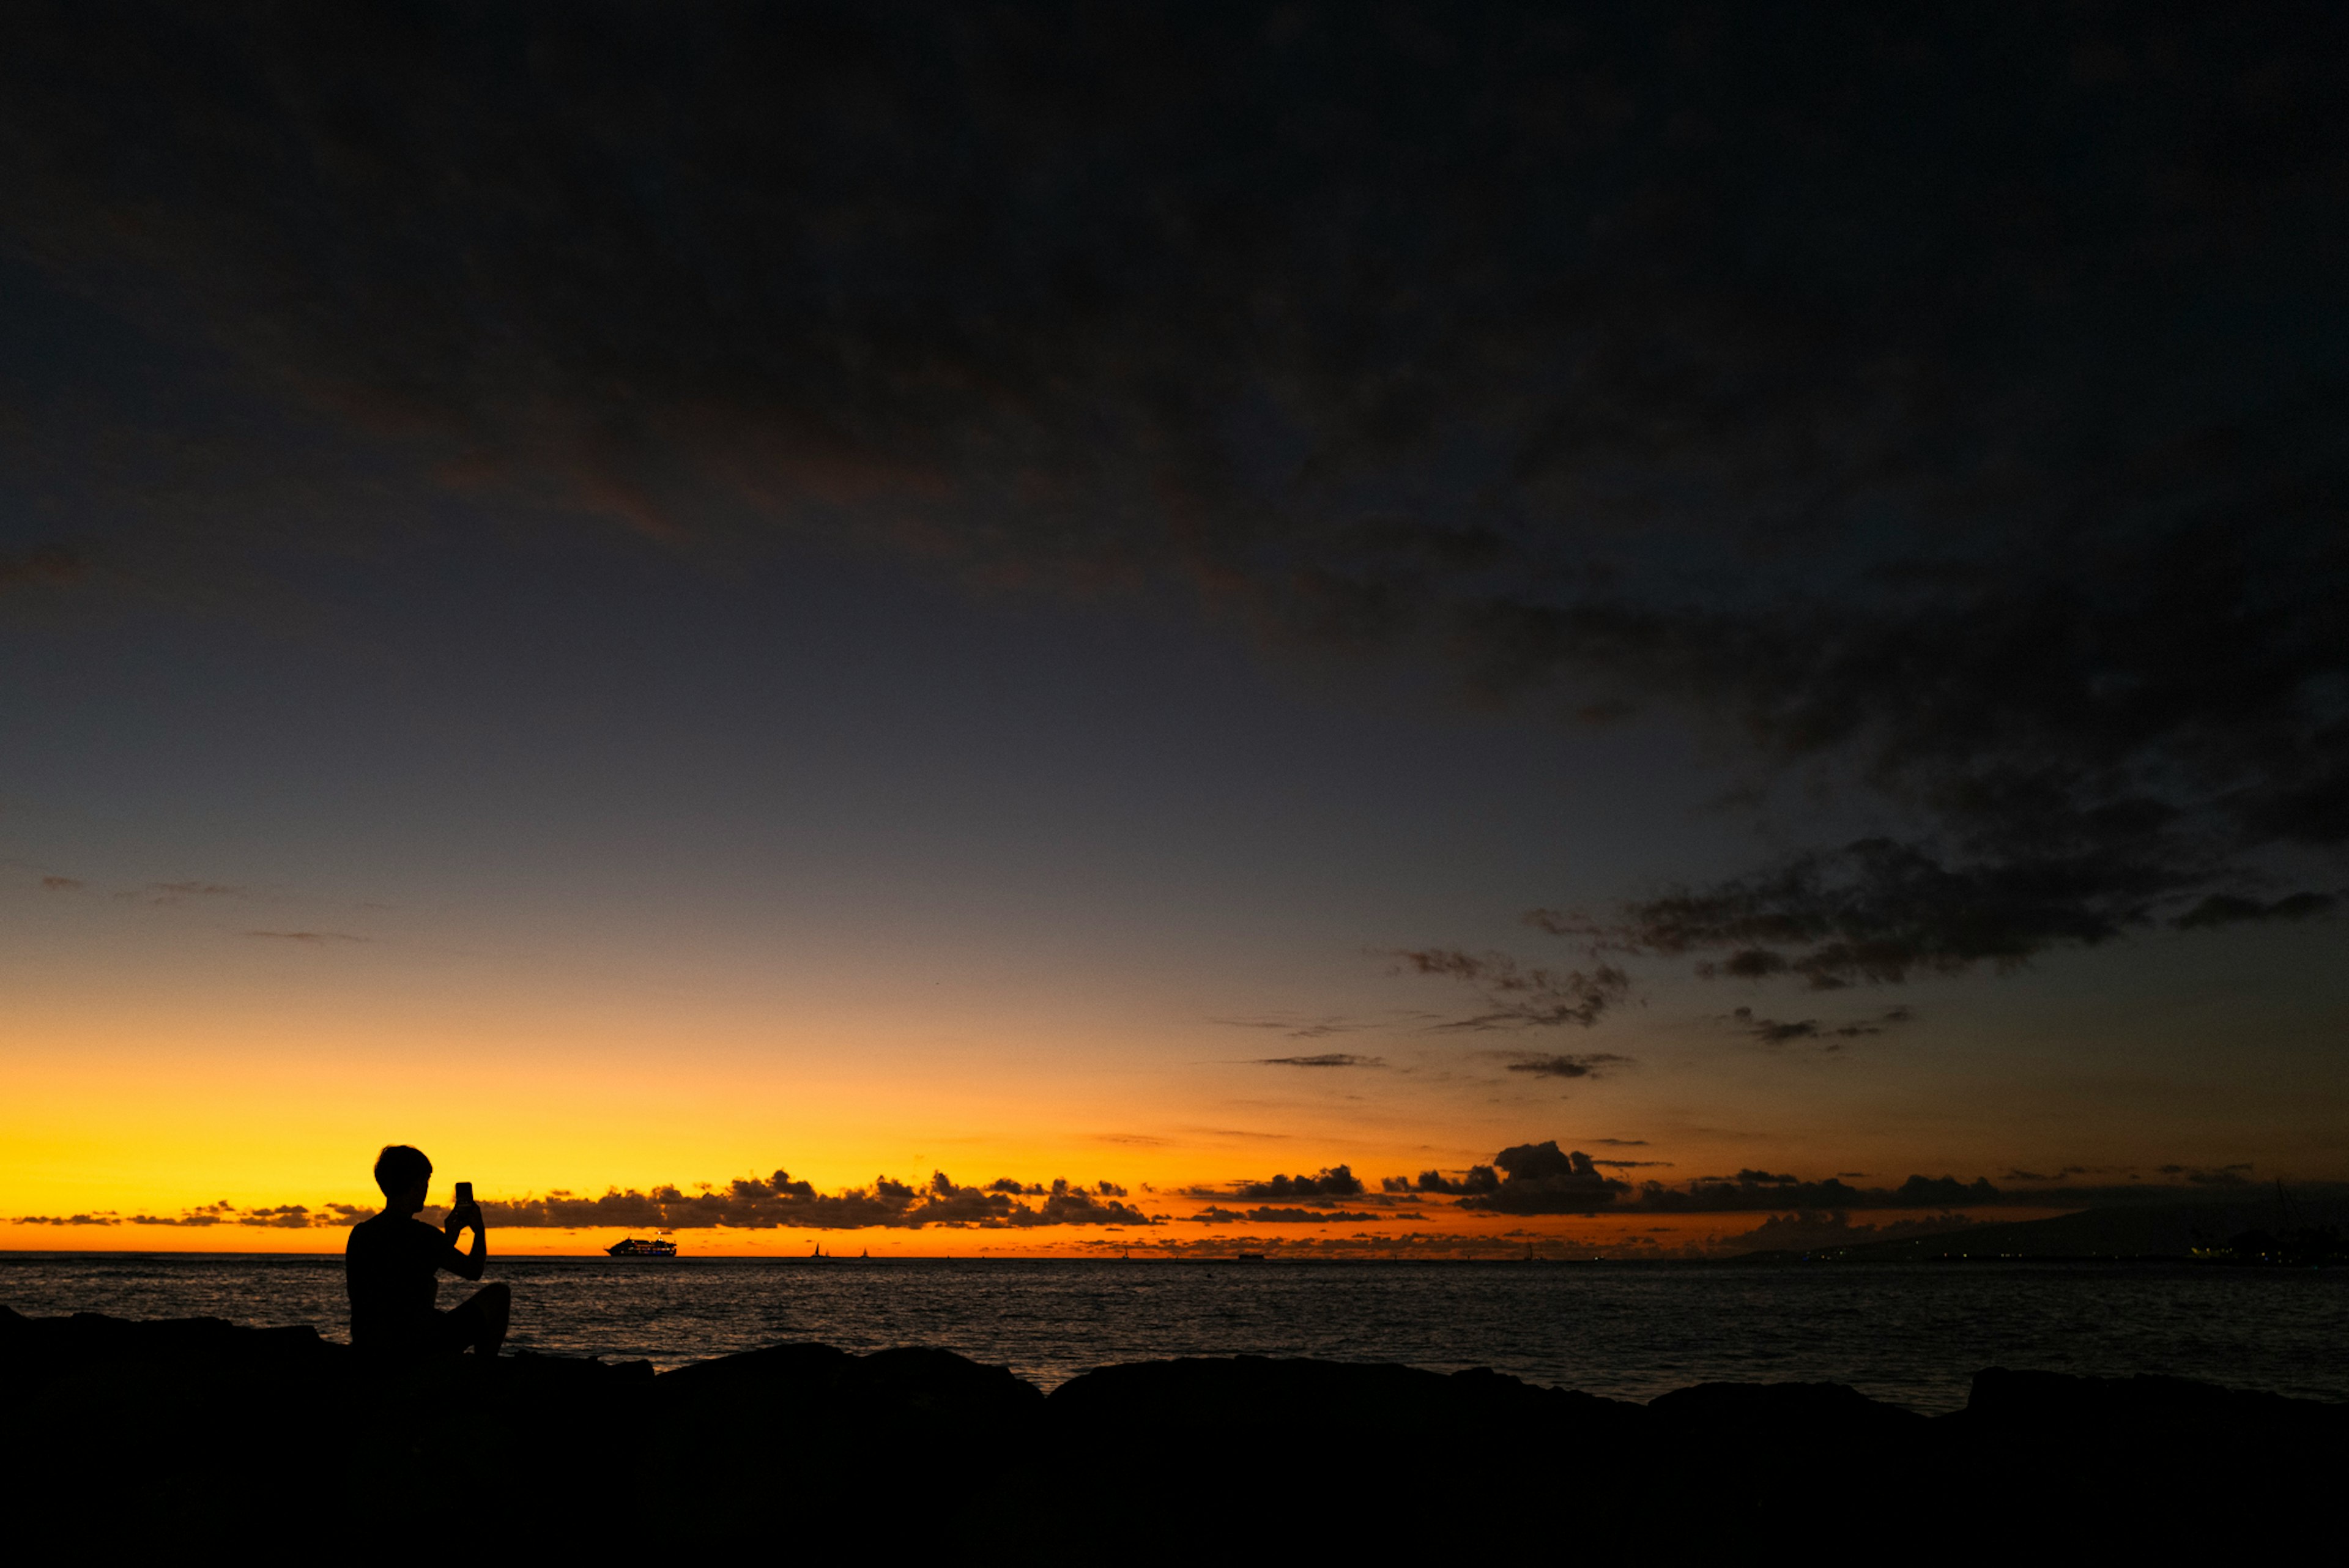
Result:
{"label": "entire sunset sky with clouds, from orange horizon to dark top", "polygon": [[2342,26],[33,7],[0,1246],[2349,1180]]}

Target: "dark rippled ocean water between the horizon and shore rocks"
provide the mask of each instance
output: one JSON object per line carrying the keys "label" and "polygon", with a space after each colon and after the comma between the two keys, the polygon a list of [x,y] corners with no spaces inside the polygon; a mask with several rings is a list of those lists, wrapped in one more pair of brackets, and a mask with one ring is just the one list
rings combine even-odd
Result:
{"label": "dark rippled ocean water between the horizon and shore rocks", "polygon": [[[669,1368],[785,1340],[942,1345],[1041,1387],[1158,1356],[1327,1356],[1651,1399],[1849,1382],[1954,1410],[1976,1368],[2170,1373],[2349,1401],[2349,1269],[2161,1265],[493,1260],[510,1347]],[[470,1286],[442,1284],[442,1305]],[[341,1258],[0,1253],[33,1316],[223,1316],[343,1338]]]}

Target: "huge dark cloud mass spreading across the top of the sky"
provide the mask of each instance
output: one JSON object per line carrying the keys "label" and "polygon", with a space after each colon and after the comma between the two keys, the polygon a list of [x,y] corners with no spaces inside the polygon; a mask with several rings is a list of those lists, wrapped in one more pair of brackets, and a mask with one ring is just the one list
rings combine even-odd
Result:
{"label": "huge dark cloud mass spreading across the top of the sky", "polygon": [[[0,230],[453,484],[1684,712],[1886,827],[1536,924],[1842,987],[2337,907],[2344,61],[2300,5],[49,5]],[[1461,1030],[1623,987],[1407,957]]]}

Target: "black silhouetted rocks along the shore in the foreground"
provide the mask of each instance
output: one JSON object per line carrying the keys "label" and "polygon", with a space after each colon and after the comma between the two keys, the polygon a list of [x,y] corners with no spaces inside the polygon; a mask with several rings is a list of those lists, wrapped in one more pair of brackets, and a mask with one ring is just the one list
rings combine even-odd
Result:
{"label": "black silhouetted rocks along the shore in the foreground", "polygon": [[1842,1385],[1708,1382],[1640,1406],[1489,1371],[1257,1356],[1109,1366],[1045,1396],[942,1349],[778,1345],[655,1378],[529,1354],[383,1366],[310,1328],[218,1319],[0,1314],[12,1495],[124,1542],[348,1540],[378,1528],[357,1521],[385,1519],[369,1500],[390,1490],[418,1519],[514,1540],[775,1554],[853,1537],[1031,1561],[2250,1549],[2335,1535],[2349,1460],[2349,1406],[2178,1378],[1985,1371],[1931,1420]]}

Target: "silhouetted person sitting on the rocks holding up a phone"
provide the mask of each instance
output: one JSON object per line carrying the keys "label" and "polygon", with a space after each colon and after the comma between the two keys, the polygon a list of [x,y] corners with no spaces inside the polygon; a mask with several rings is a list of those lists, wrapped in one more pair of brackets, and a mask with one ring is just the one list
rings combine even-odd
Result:
{"label": "silhouetted person sitting on the rocks holding up a phone", "polygon": [[[482,1286],[463,1305],[435,1307],[439,1274],[479,1279],[489,1262],[489,1229],[479,1204],[458,1204],[442,1227],[416,1211],[432,1187],[432,1161],[420,1150],[395,1143],[376,1157],[383,1213],[350,1227],[343,1276],[350,1288],[350,1342],[392,1356],[453,1356],[472,1349],[496,1356],[505,1342],[512,1293]],[[460,1229],[472,1227],[472,1251],[456,1251]]]}

